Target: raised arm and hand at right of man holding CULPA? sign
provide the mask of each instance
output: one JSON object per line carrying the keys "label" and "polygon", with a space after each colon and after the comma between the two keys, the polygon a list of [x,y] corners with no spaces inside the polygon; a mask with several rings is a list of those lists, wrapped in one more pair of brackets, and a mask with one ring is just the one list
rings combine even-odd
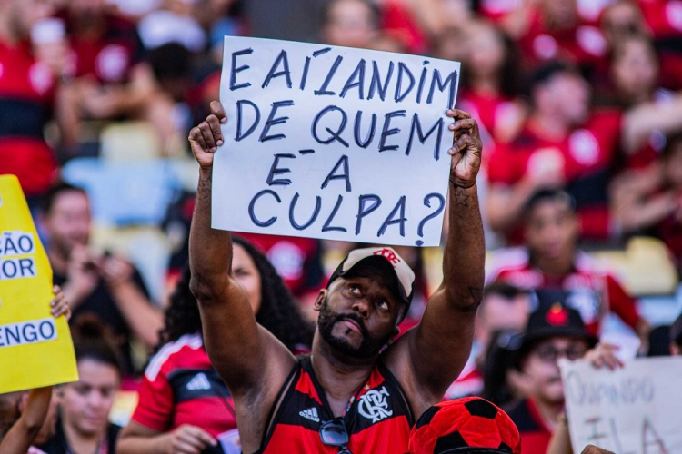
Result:
{"label": "raised arm and hand at right of man holding CULPA? sign", "polygon": [[481,140],[471,115],[459,110],[448,111],[447,115],[455,118],[456,123],[450,126],[455,140],[450,150],[450,227],[443,258],[443,283],[426,304],[416,330],[404,336],[408,367],[416,385],[410,386],[410,378],[406,377],[406,388],[417,390],[407,391],[416,407],[413,410],[442,399],[464,367],[471,350],[476,308],[483,294],[486,247],[476,190]]}

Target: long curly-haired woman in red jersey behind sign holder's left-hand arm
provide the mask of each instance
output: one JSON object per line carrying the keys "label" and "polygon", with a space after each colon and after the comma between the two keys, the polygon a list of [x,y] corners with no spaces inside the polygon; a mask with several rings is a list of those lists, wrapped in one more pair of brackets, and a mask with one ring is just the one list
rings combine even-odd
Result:
{"label": "long curly-haired woman in red jersey behind sign holder's left-hand arm", "polygon": [[[265,255],[233,237],[232,275],[246,291],[258,321],[289,350],[307,350],[313,327]],[[239,453],[235,408],[211,366],[201,336],[196,299],[186,268],[165,314],[161,342],[149,362],[133,418],[121,434],[119,454]]]}

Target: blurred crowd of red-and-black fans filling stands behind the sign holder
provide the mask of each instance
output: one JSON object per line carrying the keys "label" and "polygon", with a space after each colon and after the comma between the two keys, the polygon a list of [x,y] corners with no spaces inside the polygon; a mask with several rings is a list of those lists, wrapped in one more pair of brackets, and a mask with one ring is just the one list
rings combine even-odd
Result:
{"label": "blurred crowd of red-and-black fans filling stands behind the sign holder", "polygon": [[[591,252],[646,235],[682,266],[682,1],[3,0],[0,174],[22,184],[79,355],[56,434],[39,439],[46,452],[113,452],[120,388],[140,403],[119,452],[238,438],[186,267],[196,185],[186,137],[219,98],[225,35],[461,62],[457,107],[484,140],[489,252],[474,349],[446,398],[509,405],[525,446],[540,447],[524,454],[545,453],[561,424],[557,359],[607,348],[595,347],[607,314],[637,341],[632,357],[679,353],[682,323],[653,326],[641,295]],[[232,271],[256,320],[305,352],[311,303],[354,247],[245,234]],[[416,272],[405,330],[441,261],[396,250]],[[677,283],[675,272],[668,295]]]}

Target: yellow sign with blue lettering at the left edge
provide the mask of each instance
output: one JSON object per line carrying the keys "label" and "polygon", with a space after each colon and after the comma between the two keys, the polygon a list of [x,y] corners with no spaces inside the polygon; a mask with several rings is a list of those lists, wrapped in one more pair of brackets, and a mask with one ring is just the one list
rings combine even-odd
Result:
{"label": "yellow sign with blue lettering at the left edge", "polygon": [[14,175],[0,176],[0,393],[78,380],[52,269]]}

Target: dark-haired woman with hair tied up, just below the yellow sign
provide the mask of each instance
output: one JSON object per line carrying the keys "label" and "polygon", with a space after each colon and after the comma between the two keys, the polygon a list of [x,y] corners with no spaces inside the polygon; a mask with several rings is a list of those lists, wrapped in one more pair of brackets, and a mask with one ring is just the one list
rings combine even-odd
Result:
{"label": "dark-haired woman with hair tied up, just below the yellow sign", "polygon": [[109,422],[121,367],[105,326],[81,316],[71,329],[78,381],[64,385],[55,435],[38,449],[46,454],[115,452],[121,429]]}

